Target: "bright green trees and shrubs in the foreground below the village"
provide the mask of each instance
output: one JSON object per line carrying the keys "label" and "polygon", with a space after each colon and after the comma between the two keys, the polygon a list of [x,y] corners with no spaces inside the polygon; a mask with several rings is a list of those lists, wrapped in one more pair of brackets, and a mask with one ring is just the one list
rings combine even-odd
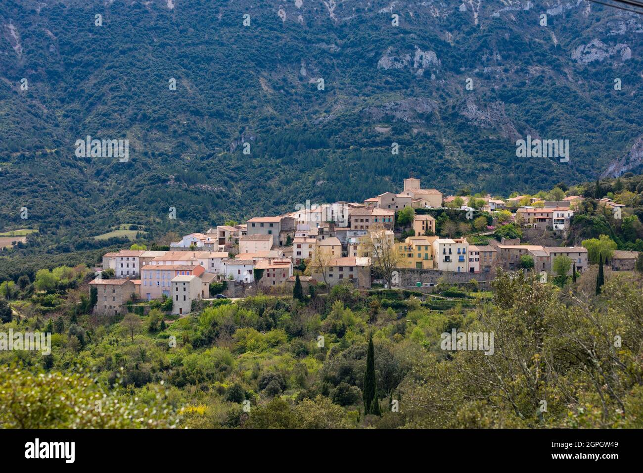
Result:
{"label": "bright green trees and shrubs in the foreground below the village", "polygon": [[[44,288],[60,315],[0,299],[0,332],[53,334],[51,353],[0,351],[0,427],[640,429],[643,279],[603,278],[500,270],[441,299],[339,285],[104,318],[75,292],[85,270],[58,268],[9,297]],[[493,353],[444,349],[453,330],[493,333]]]}

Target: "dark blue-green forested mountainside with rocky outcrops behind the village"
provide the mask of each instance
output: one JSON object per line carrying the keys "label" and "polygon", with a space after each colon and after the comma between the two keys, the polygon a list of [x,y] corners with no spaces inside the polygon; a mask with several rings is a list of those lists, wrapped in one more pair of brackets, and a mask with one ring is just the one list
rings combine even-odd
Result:
{"label": "dark blue-green forested mountainside with rocky outcrops behind the village", "polygon": [[[0,227],[26,207],[72,252],[410,173],[509,194],[637,172],[642,33],[586,1],[3,0]],[[129,159],[78,157],[87,135]],[[569,140],[569,162],[517,158],[527,135]]]}

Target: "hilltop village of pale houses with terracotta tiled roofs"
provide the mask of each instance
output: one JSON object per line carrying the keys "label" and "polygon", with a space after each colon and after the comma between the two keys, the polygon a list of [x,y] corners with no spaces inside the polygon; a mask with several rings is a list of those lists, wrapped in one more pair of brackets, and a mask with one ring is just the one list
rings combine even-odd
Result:
{"label": "hilltop village of pale houses with terracotta tiled roofs", "polygon": [[[172,313],[185,314],[194,301],[215,293],[243,297],[258,290],[292,290],[296,280],[304,290],[340,283],[363,290],[374,284],[431,287],[440,280],[488,283],[496,267],[533,269],[546,278],[560,271],[557,257],[569,261],[567,275],[583,273],[588,268],[584,246],[521,245],[511,232],[492,237],[504,228],[563,237],[582,201],[581,196],[557,201],[443,196],[408,178],[399,192],[361,203],[307,202],[287,214],[188,234],[164,250],[107,253],[95,268],[90,291],[97,290],[95,312],[105,315],[122,313],[134,299],[171,299]],[[624,207],[610,198],[601,205],[615,212]],[[449,237],[437,236],[437,219],[431,214],[447,213],[455,215],[442,232]],[[633,270],[636,259],[637,252],[616,251],[611,268]]]}

